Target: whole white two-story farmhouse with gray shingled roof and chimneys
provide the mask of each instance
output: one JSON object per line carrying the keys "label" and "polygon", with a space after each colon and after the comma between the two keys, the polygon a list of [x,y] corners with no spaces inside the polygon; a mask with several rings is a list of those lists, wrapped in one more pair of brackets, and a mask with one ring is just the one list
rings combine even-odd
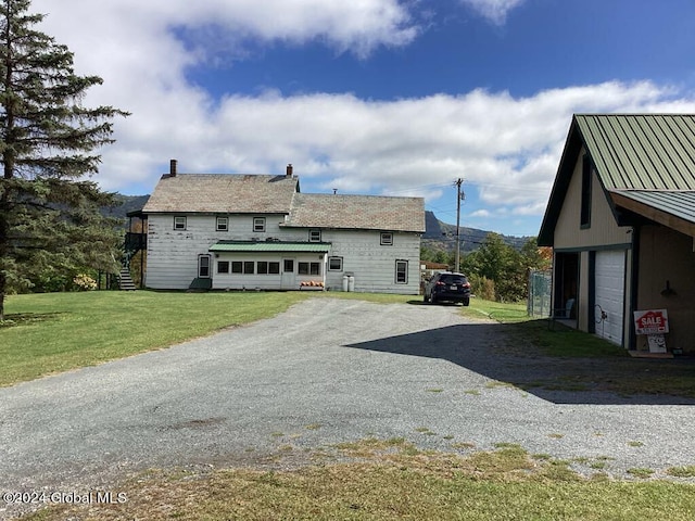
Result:
{"label": "whole white two-story farmhouse with gray shingled roof and chimneys", "polygon": [[286,175],[162,176],[140,216],[152,289],[417,294],[421,198],[309,194]]}

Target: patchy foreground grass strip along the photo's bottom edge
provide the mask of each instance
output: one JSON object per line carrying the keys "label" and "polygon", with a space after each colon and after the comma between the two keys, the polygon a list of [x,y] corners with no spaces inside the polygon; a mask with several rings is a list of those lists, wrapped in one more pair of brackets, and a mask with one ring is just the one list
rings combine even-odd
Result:
{"label": "patchy foreground grass strip along the photo's bottom edge", "polygon": [[55,506],[27,519],[690,521],[695,511],[692,484],[580,476],[571,461],[510,444],[462,455],[367,439],[311,457],[318,462],[295,470],[152,470],[112,490],[121,504]]}

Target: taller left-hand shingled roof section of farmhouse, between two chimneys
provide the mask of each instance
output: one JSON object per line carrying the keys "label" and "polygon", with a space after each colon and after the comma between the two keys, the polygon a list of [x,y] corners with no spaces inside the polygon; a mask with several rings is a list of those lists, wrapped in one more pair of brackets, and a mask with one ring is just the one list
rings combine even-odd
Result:
{"label": "taller left-hand shingled roof section of farmhouse, between two chimneys", "polygon": [[288,214],[298,179],[241,174],[162,176],[142,208],[155,213]]}

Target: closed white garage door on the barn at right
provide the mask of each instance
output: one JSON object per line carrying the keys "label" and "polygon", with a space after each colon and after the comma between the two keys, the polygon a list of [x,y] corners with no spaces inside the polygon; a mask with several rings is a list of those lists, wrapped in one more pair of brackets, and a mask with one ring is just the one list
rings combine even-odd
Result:
{"label": "closed white garage door on the barn at right", "polygon": [[595,275],[596,334],[622,344],[626,251],[596,252]]}

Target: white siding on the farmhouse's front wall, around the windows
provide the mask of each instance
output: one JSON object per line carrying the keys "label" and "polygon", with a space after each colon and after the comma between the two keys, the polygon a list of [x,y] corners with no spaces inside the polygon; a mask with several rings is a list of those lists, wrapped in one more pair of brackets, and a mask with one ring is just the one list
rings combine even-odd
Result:
{"label": "white siding on the farmhouse's front wall, around the windows", "polygon": [[[211,245],[220,240],[308,242],[308,229],[280,228],[282,215],[229,215],[229,230],[215,231],[215,215],[188,215],[186,230],[174,230],[174,215],[150,215],[148,219],[148,265],[146,285],[153,289],[188,289],[198,277],[198,256],[208,254]],[[253,232],[253,218],[266,217],[266,231]],[[381,245],[380,231],[321,230],[321,241],[330,242],[328,256],[342,257],[342,271],[328,271],[327,257],[323,254],[235,254],[213,255],[212,278],[214,289],[280,289],[279,276],[217,274],[218,260],[244,258],[249,260],[277,260],[294,258],[295,288],[301,281],[324,281],[332,291],[342,289],[343,276],[353,274],[355,291],[400,293],[416,295],[419,292],[420,238],[417,233],[393,233],[392,245]],[[299,276],[300,262],[321,262],[320,276]],[[407,262],[407,283],[396,283],[396,262]],[[282,266],[280,267],[282,270]]]}

